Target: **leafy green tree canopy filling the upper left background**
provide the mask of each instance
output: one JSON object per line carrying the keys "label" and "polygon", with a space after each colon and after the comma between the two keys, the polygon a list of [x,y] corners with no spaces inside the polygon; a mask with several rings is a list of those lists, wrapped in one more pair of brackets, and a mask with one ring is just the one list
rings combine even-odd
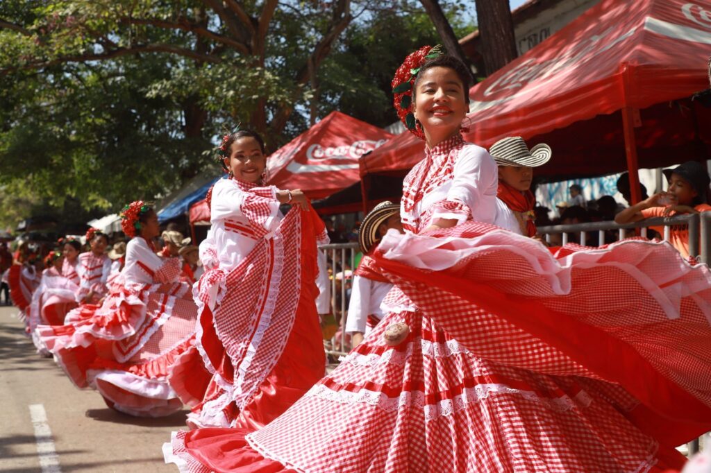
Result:
{"label": "leafy green tree canopy filling the upper left background", "polygon": [[117,210],[212,165],[236,124],[272,151],[333,109],[386,126],[392,72],[438,42],[407,1],[5,0],[0,192]]}

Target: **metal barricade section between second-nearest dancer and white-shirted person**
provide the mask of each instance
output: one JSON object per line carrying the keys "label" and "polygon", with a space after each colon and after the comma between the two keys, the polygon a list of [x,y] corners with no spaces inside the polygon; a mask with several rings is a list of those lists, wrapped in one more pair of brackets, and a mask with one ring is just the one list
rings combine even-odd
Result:
{"label": "metal barricade section between second-nearest dancer and white-shirted person", "polygon": [[331,313],[338,325],[336,335],[324,341],[324,348],[329,364],[337,364],[338,357],[351,351],[350,337],[346,337],[346,319],[355,271],[355,255],[360,249],[357,243],[336,243],[319,246],[319,250],[326,254],[328,278],[331,283]]}

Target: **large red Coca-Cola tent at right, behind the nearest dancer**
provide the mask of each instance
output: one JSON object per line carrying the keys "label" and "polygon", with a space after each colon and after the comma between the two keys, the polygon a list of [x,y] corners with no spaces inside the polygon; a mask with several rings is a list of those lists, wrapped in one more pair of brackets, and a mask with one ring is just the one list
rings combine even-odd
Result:
{"label": "large red Coca-Cola tent at right, behind the nearest dancer", "polygon": [[[635,184],[638,160],[656,167],[709,158],[708,99],[690,97],[709,86],[710,54],[711,1],[602,0],[471,88],[465,138],[488,147],[523,136],[553,148],[538,175],[628,168]],[[423,149],[401,134],[366,156],[360,173],[403,173]]]}

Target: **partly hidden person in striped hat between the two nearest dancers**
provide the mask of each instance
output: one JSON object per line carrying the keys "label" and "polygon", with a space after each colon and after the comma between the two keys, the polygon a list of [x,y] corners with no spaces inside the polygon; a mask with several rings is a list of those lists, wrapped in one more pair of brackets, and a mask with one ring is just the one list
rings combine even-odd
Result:
{"label": "partly hidden person in striped hat between the two nearest dancers", "polygon": [[355,270],[351,302],[348,305],[348,320],[346,320],[346,333],[351,335],[353,348],[363,342],[363,336],[367,335],[383,318],[380,303],[392,288],[392,284],[375,268],[370,253],[390,229],[403,233],[400,204],[393,204],[387,200],[375,206],[360,224],[358,244],[364,256],[358,269]]}

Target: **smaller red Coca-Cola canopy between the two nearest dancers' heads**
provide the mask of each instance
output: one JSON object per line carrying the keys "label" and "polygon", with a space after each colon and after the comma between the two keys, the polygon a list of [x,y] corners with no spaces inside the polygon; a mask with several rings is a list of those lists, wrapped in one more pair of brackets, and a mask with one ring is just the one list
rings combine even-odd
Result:
{"label": "smaller red Coca-Cola canopy between the two nearest dancers' heads", "polygon": [[389,138],[383,129],[331,112],[269,156],[269,184],[301,189],[311,199],[328,197],[357,183],[360,157]]}

